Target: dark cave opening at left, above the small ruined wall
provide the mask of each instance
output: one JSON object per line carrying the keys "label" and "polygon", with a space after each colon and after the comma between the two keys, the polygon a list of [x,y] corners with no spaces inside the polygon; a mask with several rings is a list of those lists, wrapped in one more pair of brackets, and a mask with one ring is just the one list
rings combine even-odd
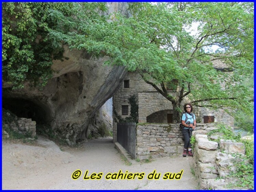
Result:
{"label": "dark cave opening at left, above the small ruined wall", "polygon": [[22,98],[2,98],[2,107],[10,110],[19,118],[32,119],[37,124],[49,124],[51,112],[43,103],[36,103]]}

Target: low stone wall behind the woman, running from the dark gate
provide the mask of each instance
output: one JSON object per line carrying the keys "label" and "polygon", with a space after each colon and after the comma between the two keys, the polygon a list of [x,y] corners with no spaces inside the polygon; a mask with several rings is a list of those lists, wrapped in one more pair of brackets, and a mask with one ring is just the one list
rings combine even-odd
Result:
{"label": "low stone wall behind the woman, running from the dark gate", "polygon": [[[197,129],[205,129],[213,124],[198,123]],[[182,154],[183,135],[179,124],[137,125],[137,158],[172,156]]]}

